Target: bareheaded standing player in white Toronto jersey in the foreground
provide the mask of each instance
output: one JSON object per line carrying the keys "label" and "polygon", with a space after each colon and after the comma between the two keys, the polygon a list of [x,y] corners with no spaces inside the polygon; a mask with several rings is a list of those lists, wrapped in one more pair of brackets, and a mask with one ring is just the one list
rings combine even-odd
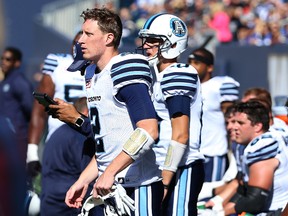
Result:
{"label": "bareheaded standing player in white Toronto jersey in the foreground", "polygon": [[[90,182],[96,179],[93,196],[97,197],[110,193],[116,180],[135,200],[135,215],[159,215],[163,185],[151,149],[158,127],[148,62],[142,55],[119,54],[122,23],[117,14],[93,8],[81,16],[79,43],[84,59],[94,63],[86,68],[85,82],[97,151],[67,191],[65,202],[79,208]],[[62,106],[62,101],[50,105],[59,118]]]}

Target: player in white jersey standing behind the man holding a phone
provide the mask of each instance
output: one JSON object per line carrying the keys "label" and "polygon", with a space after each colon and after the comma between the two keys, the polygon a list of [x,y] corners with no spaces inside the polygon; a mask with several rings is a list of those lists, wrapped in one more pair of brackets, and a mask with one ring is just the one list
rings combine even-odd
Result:
{"label": "player in white jersey standing behind the man holding a phone", "polygon": [[[78,32],[73,44],[82,35]],[[48,54],[43,66],[43,77],[36,92],[46,93],[52,98],[61,98],[67,102],[73,102],[77,97],[85,96],[85,81],[80,72],[71,73],[67,71],[68,66],[73,62],[71,54]],[[47,115],[44,106],[34,101],[31,120],[28,132],[27,167],[31,177],[36,176],[41,170],[38,156],[38,145],[44,135],[48,118],[48,135],[50,135],[63,123]]]}

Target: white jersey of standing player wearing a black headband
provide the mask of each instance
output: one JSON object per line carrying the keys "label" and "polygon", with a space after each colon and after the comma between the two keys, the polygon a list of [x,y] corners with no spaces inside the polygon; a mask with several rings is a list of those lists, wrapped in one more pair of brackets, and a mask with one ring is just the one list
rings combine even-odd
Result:
{"label": "white jersey of standing player wearing a black headband", "polygon": [[216,76],[201,83],[203,99],[201,151],[221,156],[228,152],[227,130],[221,103],[239,98],[239,83],[229,76]]}

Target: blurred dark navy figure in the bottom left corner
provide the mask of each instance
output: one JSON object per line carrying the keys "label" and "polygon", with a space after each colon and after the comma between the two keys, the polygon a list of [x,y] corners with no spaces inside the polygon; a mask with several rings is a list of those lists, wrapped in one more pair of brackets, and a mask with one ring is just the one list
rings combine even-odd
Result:
{"label": "blurred dark navy figure in the bottom left corner", "polygon": [[15,129],[0,116],[0,215],[25,215],[25,167],[19,160]]}

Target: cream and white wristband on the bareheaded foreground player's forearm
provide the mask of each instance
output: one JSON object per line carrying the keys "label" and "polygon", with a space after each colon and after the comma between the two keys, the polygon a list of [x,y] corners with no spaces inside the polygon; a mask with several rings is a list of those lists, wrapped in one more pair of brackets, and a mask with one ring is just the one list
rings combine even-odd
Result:
{"label": "cream and white wristband on the bareheaded foreground player's forearm", "polygon": [[133,160],[137,160],[154,144],[154,139],[143,128],[136,128],[129,139],[123,145],[123,151],[130,155]]}

